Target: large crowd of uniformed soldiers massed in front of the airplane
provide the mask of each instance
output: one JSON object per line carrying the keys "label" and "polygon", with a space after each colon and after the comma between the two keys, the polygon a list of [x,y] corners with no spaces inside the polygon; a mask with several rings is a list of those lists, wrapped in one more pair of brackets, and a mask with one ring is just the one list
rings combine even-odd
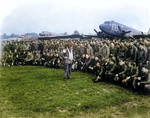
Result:
{"label": "large crowd of uniformed soldiers massed in front of the airplane", "polygon": [[73,45],[73,71],[95,73],[94,82],[119,83],[135,90],[150,88],[149,39],[54,39],[7,42],[3,48],[1,64],[63,68],[60,53],[68,44]]}

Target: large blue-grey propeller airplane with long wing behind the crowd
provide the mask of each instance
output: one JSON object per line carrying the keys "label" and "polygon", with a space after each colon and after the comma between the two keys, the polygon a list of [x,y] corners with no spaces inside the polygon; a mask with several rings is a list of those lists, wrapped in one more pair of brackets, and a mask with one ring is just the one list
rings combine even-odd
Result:
{"label": "large blue-grey propeller airplane with long wing behind the crowd", "polygon": [[101,31],[96,32],[96,35],[81,35],[79,32],[75,31],[71,35],[45,35],[43,32],[40,33],[38,39],[49,40],[49,39],[63,39],[63,38],[80,38],[80,39],[91,39],[92,37],[97,38],[144,38],[150,37],[150,30],[148,33],[143,33],[137,29],[131,28],[129,26],[123,25],[115,21],[105,21],[103,24],[99,25]]}

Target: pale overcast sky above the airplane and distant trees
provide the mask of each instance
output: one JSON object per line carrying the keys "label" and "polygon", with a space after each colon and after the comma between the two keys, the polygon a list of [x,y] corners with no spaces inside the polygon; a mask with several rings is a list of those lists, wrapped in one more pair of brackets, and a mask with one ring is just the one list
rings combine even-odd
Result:
{"label": "pale overcast sky above the airplane and distant trees", "polygon": [[108,20],[144,32],[150,28],[148,0],[2,0],[0,11],[0,34],[94,34]]}

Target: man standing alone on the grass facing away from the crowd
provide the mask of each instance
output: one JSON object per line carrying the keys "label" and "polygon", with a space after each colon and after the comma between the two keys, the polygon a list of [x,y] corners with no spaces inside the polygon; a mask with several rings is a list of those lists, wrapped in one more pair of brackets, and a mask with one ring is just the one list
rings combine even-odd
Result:
{"label": "man standing alone on the grass facing away from the crowd", "polygon": [[64,58],[64,81],[70,79],[71,67],[73,61],[73,49],[71,44],[65,44],[64,50],[61,52],[61,56]]}

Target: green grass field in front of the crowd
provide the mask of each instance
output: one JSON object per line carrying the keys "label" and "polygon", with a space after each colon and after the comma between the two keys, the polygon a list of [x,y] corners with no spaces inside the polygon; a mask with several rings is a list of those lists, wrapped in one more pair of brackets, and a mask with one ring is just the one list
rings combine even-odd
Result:
{"label": "green grass field in front of the crowd", "polygon": [[75,71],[64,81],[62,69],[0,67],[0,118],[150,117],[150,94],[93,83],[92,76]]}

